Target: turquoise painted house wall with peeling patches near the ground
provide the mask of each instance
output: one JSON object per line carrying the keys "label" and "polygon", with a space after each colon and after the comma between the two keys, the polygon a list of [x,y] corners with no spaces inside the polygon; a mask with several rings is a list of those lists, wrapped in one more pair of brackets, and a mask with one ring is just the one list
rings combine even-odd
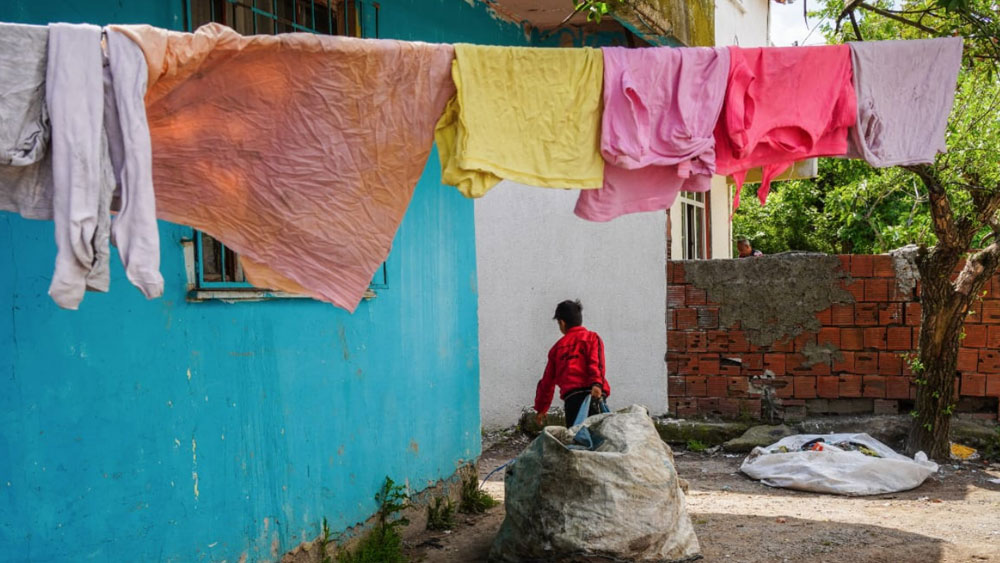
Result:
{"label": "turquoise painted house wall with peeling patches near the ground", "polygon": [[[123,7],[128,4],[129,7]],[[382,0],[380,35],[524,44],[463,0]],[[0,21],[181,28],[179,1],[5,0]],[[189,303],[161,223],[161,299],[113,264],[80,311],[46,295],[52,225],[0,213],[0,561],[273,560],[479,455],[472,202],[432,155],[353,315],[312,301]]]}

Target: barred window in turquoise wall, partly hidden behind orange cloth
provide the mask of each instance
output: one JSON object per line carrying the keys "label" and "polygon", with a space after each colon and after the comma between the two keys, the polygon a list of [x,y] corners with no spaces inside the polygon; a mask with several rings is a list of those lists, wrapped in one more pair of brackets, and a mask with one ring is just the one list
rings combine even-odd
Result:
{"label": "barred window in turquoise wall, partly hidden behind orange cloth", "polygon": [[[217,22],[244,35],[319,33],[378,37],[379,4],[371,0],[187,0],[188,29]],[[189,297],[194,300],[252,300],[303,297],[254,287],[247,281],[239,255],[208,234],[194,231],[185,241]],[[371,288],[385,288],[386,266]],[[369,289],[366,297],[374,297]]]}

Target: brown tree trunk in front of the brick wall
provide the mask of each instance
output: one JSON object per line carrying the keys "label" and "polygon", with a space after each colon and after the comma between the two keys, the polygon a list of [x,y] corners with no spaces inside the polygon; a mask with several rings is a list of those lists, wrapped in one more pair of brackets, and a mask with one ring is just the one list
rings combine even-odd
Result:
{"label": "brown tree trunk in front of the brick wall", "polygon": [[910,413],[914,420],[906,443],[908,455],[922,451],[936,460],[950,455],[948,432],[957,402],[958,347],[970,301],[951,282],[960,258],[954,249],[938,245],[918,261],[922,318],[919,363],[911,363],[917,400]]}

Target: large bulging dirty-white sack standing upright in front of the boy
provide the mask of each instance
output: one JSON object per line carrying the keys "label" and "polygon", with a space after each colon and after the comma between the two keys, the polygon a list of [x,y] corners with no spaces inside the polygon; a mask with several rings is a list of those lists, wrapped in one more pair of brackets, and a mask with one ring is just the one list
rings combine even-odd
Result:
{"label": "large bulging dirty-white sack standing upright in front of the boy", "polygon": [[[582,427],[600,443],[596,450],[567,448]],[[545,428],[507,466],[504,483],[507,515],[490,561],[698,557],[673,453],[642,407],[592,416],[572,430]]]}

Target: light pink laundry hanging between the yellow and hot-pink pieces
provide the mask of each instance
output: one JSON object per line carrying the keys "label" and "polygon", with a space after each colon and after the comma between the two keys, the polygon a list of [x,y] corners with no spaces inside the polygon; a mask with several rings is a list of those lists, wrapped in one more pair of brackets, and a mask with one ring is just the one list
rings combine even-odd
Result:
{"label": "light pink laundry hanging between the yellow and hot-pink pieces", "polygon": [[580,192],[575,213],[609,221],[669,208],[680,190],[711,189],[713,130],[729,74],[726,48],[605,47],[604,187]]}

